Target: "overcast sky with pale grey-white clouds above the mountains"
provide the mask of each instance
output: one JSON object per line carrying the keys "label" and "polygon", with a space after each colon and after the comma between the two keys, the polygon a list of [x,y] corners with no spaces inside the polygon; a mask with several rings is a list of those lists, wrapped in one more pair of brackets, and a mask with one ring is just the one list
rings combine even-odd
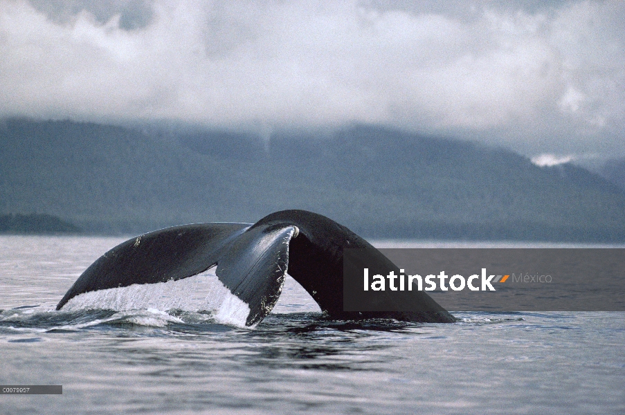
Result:
{"label": "overcast sky with pale grey-white clouds above the mountains", "polygon": [[624,28],[623,1],[0,0],[0,116],[624,156]]}

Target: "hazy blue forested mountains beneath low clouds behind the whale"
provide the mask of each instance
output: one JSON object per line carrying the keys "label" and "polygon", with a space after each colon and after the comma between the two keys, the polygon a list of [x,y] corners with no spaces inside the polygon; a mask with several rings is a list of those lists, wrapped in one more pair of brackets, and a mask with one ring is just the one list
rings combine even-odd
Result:
{"label": "hazy blue forested mountains beneath low clouds behind the whale", "polygon": [[0,126],[0,214],[51,214],[87,232],[255,222],[299,208],[365,237],[625,241],[615,183],[370,125],[264,138],[23,118]]}

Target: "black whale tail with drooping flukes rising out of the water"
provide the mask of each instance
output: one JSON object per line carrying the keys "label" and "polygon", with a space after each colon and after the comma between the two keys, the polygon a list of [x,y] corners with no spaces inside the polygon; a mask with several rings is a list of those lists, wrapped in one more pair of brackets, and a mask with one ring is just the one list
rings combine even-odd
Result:
{"label": "black whale tail with drooping flukes rising out of the water", "polygon": [[[379,297],[389,311],[343,310],[343,250],[368,248],[374,259],[399,273],[379,251],[345,226],[305,210],[283,210],[257,223],[198,223],[174,226],[129,239],[106,252],[80,275],[61,299],[60,310],[82,293],[179,280],[217,266],[216,275],[248,304],[246,326],[271,312],[287,272],[322,311],[339,320],[392,318],[408,322],[454,322],[455,317],[422,291],[400,301]],[[415,303],[417,308],[415,309]],[[406,308],[404,308],[406,309]]]}

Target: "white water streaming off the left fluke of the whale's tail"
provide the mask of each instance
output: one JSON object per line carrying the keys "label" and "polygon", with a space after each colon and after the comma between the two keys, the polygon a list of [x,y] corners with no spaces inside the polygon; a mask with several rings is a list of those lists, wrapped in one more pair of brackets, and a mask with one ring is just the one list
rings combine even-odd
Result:
{"label": "white water streaming off the left fluke of the whale's tail", "polygon": [[154,315],[174,308],[188,312],[208,311],[215,322],[245,327],[250,307],[219,281],[216,268],[178,281],[133,284],[83,293],[73,297],[63,310],[147,310]]}

